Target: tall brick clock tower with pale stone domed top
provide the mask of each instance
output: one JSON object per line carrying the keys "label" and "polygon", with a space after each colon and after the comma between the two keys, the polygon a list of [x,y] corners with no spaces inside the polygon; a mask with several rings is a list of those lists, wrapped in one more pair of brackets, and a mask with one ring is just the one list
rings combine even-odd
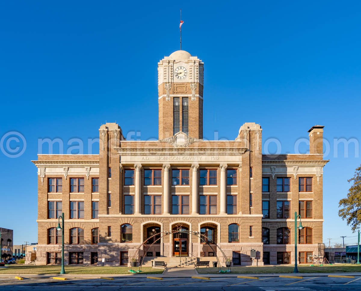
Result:
{"label": "tall brick clock tower with pale stone domed top", "polygon": [[158,139],[203,138],[203,62],[177,50],[158,63]]}

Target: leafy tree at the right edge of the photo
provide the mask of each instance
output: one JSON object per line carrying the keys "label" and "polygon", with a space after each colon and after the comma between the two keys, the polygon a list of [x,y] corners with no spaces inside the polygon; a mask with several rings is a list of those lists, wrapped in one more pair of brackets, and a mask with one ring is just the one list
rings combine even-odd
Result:
{"label": "leafy tree at the right edge of the photo", "polygon": [[351,226],[352,232],[355,232],[361,226],[361,166],[355,171],[353,178],[348,182],[353,182],[348,189],[347,198],[339,202],[339,216],[342,220],[346,219],[347,225]]}

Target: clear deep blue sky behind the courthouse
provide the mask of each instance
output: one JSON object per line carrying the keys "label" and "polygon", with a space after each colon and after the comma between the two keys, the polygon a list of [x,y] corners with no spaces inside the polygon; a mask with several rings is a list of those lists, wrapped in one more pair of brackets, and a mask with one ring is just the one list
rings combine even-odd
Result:
{"label": "clear deep blue sky behind the courthouse", "polygon": [[256,122],[263,142],[294,153],[312,125],[325,125],[323,241],[357,242],[338,201],[360,145],[345,157],[333,140],[361,137],[358,1],[3,2],[0,137],[17,131],[26,150],[0,152],[0,226],[16,244],[37,241],[38,138],[86,144],[106,121],[157,138],[157,62],[179,49],[179,8],[182,48],[204,61],[204,137],[234,139]]}

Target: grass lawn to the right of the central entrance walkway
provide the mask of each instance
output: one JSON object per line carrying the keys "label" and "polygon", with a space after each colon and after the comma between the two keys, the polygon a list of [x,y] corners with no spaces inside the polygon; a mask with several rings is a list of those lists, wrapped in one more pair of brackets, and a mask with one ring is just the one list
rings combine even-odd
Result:
{"label": "grass lawn to the right of the central entrance walkway", "polygon": [[[294,266],[260,266],[260,267],[231,267],[232,273],[239,274],[266,274],[266,273],[293,273]],[[222,268],[226,270],[226,268]],[[361,272],[361,265],[337,264],[324,266],[298,266],[300,273],[344,273]],[[216,274],[218,268],[198,268],[199,274]]]}

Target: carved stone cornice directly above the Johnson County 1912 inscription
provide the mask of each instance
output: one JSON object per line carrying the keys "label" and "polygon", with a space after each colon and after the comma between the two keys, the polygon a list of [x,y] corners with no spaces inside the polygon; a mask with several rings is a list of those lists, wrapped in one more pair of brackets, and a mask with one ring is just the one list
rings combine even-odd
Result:
{"label": "carved stone cornice directly above the Johnson County 1912 inscription", "polygon": [[207,147],[207,148],[134,148],[134,147],[114,147],[120,155],[239,155],[245,153],[247,147]]}

